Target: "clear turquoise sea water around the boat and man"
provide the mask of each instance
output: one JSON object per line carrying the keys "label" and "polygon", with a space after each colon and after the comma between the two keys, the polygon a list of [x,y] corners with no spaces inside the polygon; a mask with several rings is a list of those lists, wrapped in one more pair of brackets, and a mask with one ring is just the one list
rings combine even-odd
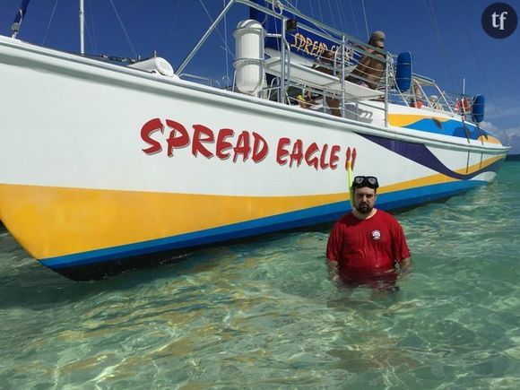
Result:
{"label": "clear turquoise sea water around the boat and man", "polygon": [[79,283],[0,230],[0,387],[520,388],[520,163],[398,219],[390,295],[329,282],[327,231]]}

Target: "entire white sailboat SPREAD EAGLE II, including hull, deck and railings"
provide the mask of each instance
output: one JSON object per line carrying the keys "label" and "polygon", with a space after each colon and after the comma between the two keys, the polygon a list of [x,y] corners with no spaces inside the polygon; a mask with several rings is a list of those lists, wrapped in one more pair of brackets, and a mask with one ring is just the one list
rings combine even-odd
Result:
{"label": "entire white sailboat SPREAD EAGLE II, including hull, deck and railings", "polygon": [[[183,78],[236,4],[251,11],[234,34],[232,88]],[[384,65],[377,80],[356,74],[367,58]],[[0,220],[40,264],[80,281],[334,221],[351,208],[350,169],[377,176],[378,207],[393,210],[490,183],[508,151],[480,126],[483,96],[449,96],[410,53],[278,0],[230,0],[176,70],[13,33],[0,37],[0,74]]]}

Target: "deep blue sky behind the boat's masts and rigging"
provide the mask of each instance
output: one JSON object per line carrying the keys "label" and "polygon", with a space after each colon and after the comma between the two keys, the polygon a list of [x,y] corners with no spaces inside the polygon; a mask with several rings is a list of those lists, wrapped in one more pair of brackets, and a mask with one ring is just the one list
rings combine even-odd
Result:
{"label": "deep blue sky behind the boat's masts and rigging", "polygon": [[[446,91],[486,97],[482,127],[520,153],[520,26],[505,39],[481,27],[486,0],[290,0],[300,11],[361,40],[386,32],[386,49],[411,51],[413,71]],[[0,0],[0,34],[11,35],[21,0]],[[520,0],[507,0],[520,15]],[[79,1],[32,0],[19,39],[79,51]],[[156,51],[178,68],[220,13],[224,0],[84,0],[86,52],[148,57]],[[366,15],[366,17],[365,17]],[[185,73],[222,81],[233,76],[238,22],[248,18],[237,5],[213,33]],[[227,42],[227,43],[226,43]]]}

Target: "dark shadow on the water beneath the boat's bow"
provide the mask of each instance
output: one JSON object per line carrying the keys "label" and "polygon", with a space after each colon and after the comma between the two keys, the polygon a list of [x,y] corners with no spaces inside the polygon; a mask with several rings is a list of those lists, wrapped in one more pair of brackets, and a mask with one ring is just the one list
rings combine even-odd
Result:
{"label": "dark shadow on the water beneath the boat's bow", "polygon": [[[121,259],[117,263],[110,262],[110,267],[98,265],[97,268],[87,268],[83,273],[65,274],[67,277],[38,264],[18,246],[8,231],[4,230],[7,238],[3,248],[7,250],[8,255],[4,255],[4,264],[0,272],[0,294],[3,297],[0,308],[47,309],[56,303],[82,301],[106,291],[132,290],[139,285],[164,278],[189,278],[199,273],[211,272],[221,266],[224,256],[222,252],[229,256],[227,252],[231,247],[268,245],[291,232],[328,231],[331,226],[322,224],[307,229],[268,233],[256,238],[234,239],[218,247],[206,245],[193,247],[189,251],[170,250],[134,256]],[[5,261],[7,256],[9,262]]]}

